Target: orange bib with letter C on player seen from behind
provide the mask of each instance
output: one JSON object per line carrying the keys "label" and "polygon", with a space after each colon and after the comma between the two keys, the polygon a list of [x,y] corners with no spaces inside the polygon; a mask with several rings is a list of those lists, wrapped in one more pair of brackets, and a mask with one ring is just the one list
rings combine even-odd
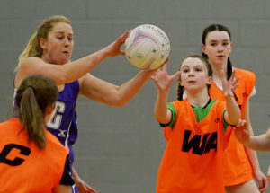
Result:
{"label": "orange bib with letter C on player seen from behind", "polygon": [[68,149],[45,128],[47,144],[39,149],[18,118],[0,124],[0,192],[48,193],[57,187]]}

